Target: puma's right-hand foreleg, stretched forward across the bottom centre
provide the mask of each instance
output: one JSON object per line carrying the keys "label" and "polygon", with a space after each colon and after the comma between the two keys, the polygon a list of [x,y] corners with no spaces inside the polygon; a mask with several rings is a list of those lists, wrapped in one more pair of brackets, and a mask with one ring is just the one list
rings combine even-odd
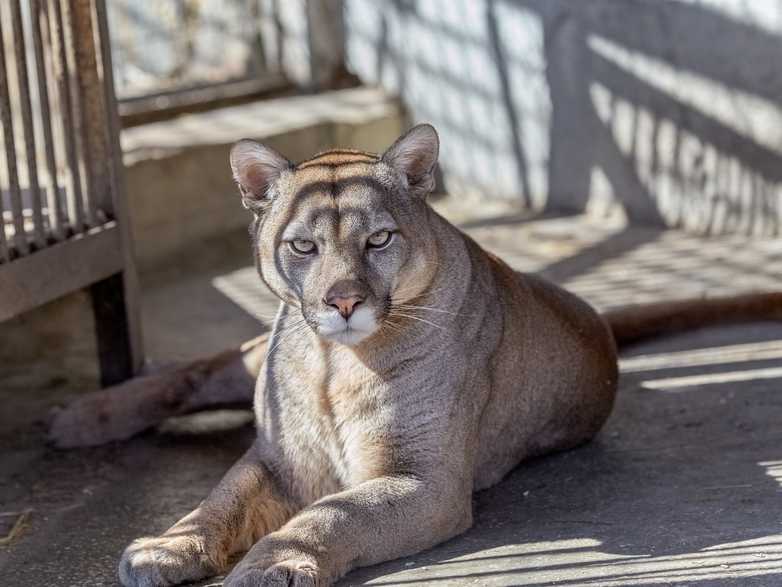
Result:
{"label": "puma's right-hand foreleg, stretched forward across the bottom centre", "polygon": [[347,571],[415,553],[472,523],[471,484],[388,475],[319,499],[260,539],[224,587],[330,585]]}

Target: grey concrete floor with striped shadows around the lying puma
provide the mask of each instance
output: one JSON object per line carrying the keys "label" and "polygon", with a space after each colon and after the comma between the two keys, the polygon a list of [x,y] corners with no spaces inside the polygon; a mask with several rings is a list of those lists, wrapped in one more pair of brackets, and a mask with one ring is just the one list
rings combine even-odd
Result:
{"label": "grey concrete floor with striped shadows around the lying puma", "polygon": [[[782,286],[777,242],[626,231],[619,220],[585,218],[483,219],[470,231],[515,267],[541,270],[601,308]],[[274,302],[242,266],[145,292],[149,353],[189,358],[260,332],[267,319],[253,314]],[[476,494],[475,524],[464,535],[354,571],[340,587],[782,584],[780,378],[724,375],[782,367],[782,353],[756,344],[734,360],[729,349],[720,363],[708,352],[689,363],[677,354],[780,340],[782,324],[737,324],[625,349],[658,355],[665,368],[644,359],[645,370],[622,374],[614,413],[593,442],[526,462]],[[694,374],[716,382],[655,388]],[[20,539],[0,548],[0,583],[119,585],[124,546],[192,510],[252,437],[246,425],[206,435],[149,431],[98,449],[5,450],[0,535],[16,519],[6,514],[33,513]]]}

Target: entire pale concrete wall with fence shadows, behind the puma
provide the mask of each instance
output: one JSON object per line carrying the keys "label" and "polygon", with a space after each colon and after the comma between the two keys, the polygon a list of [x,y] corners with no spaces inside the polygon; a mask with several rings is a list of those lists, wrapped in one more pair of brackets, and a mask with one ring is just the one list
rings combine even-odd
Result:
{"label": "entire pale concrete wall with fence shadows, behind the puma", "polygon": [[782,0],[346,0],[349,65],[443,137],[450,193],[779,234]]}

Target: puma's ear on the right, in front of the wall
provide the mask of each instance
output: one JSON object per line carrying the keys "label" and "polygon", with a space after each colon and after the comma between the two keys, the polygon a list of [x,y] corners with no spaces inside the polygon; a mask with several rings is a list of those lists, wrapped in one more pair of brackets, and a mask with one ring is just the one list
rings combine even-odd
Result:
{"label": "puma's ear on the right, in front of the wall", "polygon": [[418,124],[394,141],[380,160],[389,165],[407,190],[426,199],[435,188],[439,138],[431,124]]}

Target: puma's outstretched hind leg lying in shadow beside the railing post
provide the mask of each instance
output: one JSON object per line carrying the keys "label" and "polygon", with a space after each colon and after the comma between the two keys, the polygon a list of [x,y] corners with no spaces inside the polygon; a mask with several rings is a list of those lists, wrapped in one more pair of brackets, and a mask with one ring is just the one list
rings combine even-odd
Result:
{"label": "puma's outstretched hind leg lying in shadow beside the railing post", "polygon": [[252,403],[267,340],[263,335],[238,350],[85,394],[52,414],[47,439],[59,449],[97,446],[130,438],[169,416]]}

